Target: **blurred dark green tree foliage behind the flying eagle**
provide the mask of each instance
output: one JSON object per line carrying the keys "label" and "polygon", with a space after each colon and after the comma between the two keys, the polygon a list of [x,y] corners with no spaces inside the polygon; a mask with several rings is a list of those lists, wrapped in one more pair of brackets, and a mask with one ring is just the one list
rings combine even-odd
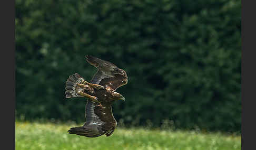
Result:
{"label": "blurred dark green tree foliage behind the flying eagle", "polygon": [[125,69],[116,120],[210,131],[241,130],[241,1],[16,0],[16,117],[84,121],[90,54]]}

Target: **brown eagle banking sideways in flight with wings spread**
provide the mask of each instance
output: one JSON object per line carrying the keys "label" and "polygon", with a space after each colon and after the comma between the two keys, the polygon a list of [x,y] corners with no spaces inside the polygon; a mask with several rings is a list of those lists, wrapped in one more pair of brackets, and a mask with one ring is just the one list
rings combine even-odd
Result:
{"label": "brown eagle banking sideways in flight with wings spread", "polygon": [[71,75],[66,81],[66,98],[85,97],[85,123],[83,126],[72,127],[68,132],[86,137],[101,135],[110,136],[117,125],[111,105],[115,100],[125,100],[115,92],[127,84],[127,74],[113,63],[86,55],[86,61],[97,68],[91,83],[84,80],[78,73]]}

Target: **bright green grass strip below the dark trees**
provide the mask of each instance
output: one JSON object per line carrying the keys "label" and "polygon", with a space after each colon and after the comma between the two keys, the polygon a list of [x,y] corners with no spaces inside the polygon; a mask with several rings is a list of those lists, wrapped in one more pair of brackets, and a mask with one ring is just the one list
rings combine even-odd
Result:
{"label": "bright green grass strip below the dark trees", "polygon": [[241,136],[221,133],[117,127],[110,137],[88,138],[68,134],[73,126],[77,125],[16,122],[15,149],[241,149]]}

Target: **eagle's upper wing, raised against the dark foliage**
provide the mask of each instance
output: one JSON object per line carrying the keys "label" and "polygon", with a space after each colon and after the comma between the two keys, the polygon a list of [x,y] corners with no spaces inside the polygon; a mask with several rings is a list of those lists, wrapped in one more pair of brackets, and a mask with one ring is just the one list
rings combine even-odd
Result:
{"label": "eagle's upper wing, raised against the dark foliage", "polygon": [[113,90],[127,83],[127,75],[123,69],[116,67],[113,63],[99,58],[86,55],[88,63],[96,67],[98,70],[94,74],[91,83],[108,85]]}

